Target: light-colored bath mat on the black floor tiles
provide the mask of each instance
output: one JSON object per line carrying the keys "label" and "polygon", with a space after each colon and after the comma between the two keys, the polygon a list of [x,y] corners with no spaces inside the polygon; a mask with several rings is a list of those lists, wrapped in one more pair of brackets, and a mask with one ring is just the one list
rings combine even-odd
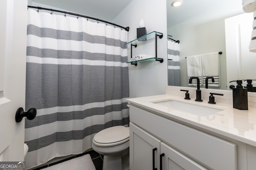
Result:
{"label": "light-colored bath mat on the black floor tiles", "polygon": [[85,154],[42,170],[96,170],[90,154]]}

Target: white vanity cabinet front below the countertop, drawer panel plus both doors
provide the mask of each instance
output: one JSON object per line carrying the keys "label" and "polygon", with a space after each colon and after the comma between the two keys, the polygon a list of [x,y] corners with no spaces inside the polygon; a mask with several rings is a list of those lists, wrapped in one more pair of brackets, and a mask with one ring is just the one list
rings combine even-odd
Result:
{"label": "white vanity cabinet front below the countertop, drawer panel plus both doors", "polygon": [[130,106],[130,170],[237,170],[236,144]]}

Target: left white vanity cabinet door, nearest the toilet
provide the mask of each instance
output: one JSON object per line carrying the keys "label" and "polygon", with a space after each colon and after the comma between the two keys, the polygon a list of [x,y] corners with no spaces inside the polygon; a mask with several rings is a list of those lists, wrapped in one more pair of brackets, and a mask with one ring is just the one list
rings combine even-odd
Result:
{"label": "left white vanity cabinet door, nearest the toilet", "polygon": [[160,142],[130,123],[130,170],[159,170]]}

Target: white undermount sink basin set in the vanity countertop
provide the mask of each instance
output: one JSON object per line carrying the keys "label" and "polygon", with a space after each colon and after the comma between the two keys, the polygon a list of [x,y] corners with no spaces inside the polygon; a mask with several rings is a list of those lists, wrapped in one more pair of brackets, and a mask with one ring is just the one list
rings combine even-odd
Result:
{"label": "white undermount sink basin set in the vanity countertop", "polygon": [[152,103],[158,104],[160,106],[168,107],[170,109],[173,109],[173,111],[182,111],[185,113],[191,113],[199,116],[208,116],[224,110],[224,108],[213,108],[213,107],[203,106],[207,104],[195,104],[195,102],[193,102],[192,104],[192,103],[189,103],[189,101],[182,102],[178,100],[165,100],[165,101],[154,101]]}

